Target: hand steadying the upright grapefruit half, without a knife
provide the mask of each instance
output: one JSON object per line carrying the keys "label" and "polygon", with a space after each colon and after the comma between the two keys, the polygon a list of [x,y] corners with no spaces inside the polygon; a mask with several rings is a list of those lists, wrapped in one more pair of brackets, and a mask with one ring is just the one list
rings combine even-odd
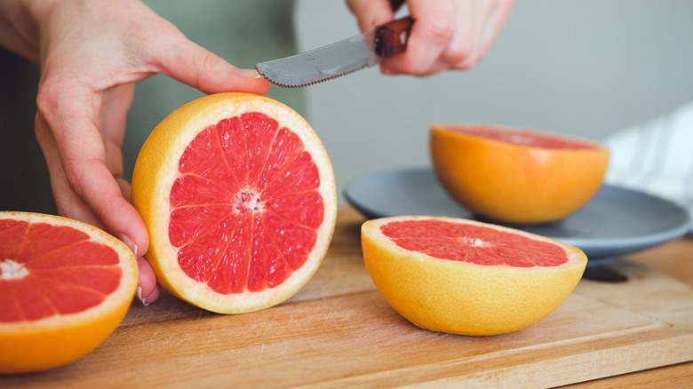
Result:
{"label": "hand steadying the upright grapefruit half, without a knife", "polygon": [[[270,84],[190,42],[137,0],[31,2],[41,66],[36,138],[51,174],[61,215],[99,226],[139,258],[138,298],[158,294],[142,256],[147,228],[129,202],[121,144],[134,83],[163,73],[205,93],[250,91]],[[19,52],[19,51],[18,51]]]}

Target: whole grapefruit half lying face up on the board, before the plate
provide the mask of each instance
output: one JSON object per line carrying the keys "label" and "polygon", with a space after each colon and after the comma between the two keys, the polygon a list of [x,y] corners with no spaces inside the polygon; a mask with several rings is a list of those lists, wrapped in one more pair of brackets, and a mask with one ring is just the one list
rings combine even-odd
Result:
{"label": "whole grapefruit half lying face up on the board, before the plate", "polygon": [[498,335],[553,312],[587,258],[575,247],[474,220],[401,216],[362,225],[363,259],[378,290],[423,329]]}

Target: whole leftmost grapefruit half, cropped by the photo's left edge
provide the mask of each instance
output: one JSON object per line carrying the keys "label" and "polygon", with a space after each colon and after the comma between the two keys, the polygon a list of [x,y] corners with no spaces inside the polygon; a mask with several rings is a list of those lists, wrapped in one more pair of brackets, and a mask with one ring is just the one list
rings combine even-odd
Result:
{"label": "whole leftmost grapefruit half, cropped by the photo's left edge", "polygon": [[0,373],[53,369],[91,352],[123,320],[134,254],[68,218],[0,212]]}

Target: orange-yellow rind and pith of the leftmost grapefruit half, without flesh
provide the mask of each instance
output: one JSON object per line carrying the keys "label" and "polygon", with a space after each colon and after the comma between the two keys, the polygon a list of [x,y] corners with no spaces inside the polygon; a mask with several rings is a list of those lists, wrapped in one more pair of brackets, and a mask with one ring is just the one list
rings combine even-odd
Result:
{"label": "orange-yellow rind and pith of the leftmost grapefruit half, without flesh", "polygon": [[0,212],[0,218],[60,224],[84,231],[92,242],[116,250],[123,270],[118,289],[99,306],[33,322],[0,322],[0,374],[54,369],[92,352],[113,333],[131,306],[139,282],[137,259],[132,251],[100,229],[70,218],[29,212]]}

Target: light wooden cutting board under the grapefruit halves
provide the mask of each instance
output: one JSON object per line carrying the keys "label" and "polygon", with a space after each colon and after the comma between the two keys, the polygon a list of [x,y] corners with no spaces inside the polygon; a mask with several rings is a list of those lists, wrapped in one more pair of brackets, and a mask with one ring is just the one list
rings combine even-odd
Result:
{"label": "light wooden cutting board under the grapefruit halves", "polygon": [[220,315],[163,294],[82,360],[0,387],[548,387],[693,361],[693,290],[625,261],[613,267],[626,282],[583,280],[529,329],[418,329],[370,281],[361,223],[340,211],[323,266],[280,306]]}

